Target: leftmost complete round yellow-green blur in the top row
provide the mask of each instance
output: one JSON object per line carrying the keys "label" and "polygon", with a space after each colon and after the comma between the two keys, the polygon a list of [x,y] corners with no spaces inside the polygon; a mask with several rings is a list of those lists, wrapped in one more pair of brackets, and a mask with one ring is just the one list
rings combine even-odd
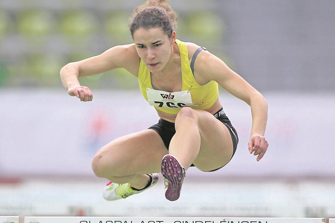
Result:
{"label": "leftmost complete round yellow-green blur in the top row", "polygon": [[18,14],[18,32],[28,39],[41,39],[54,32],[55,19],[47,11],[25,10]]}

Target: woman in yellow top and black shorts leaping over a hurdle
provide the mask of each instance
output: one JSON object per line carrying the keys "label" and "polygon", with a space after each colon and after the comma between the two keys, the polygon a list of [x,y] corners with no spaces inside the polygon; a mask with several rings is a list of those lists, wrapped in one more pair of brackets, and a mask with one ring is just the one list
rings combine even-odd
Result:
{"label": "woman in yellow top and black shorts leaping over a hurdle", "polygon": [[69,63],[60,71],[69,95],[92,101],[90,89],[78,77],[124,68],[138,78],[143,97],[160,117],[157,124],[114,139],[95,154],[93,172],[111,181],[103,191],[107,200],[152,187],[160,171],[165,197],[175,201],[190,166],[215,171],[230,161],[238,135],[218,98],[218,84],[251,107],[249,152],[259,161],[267,150],[264,97],[207,49],[177,39],[176,22],[166,0],[149,0],[131,18],[134,43]]}

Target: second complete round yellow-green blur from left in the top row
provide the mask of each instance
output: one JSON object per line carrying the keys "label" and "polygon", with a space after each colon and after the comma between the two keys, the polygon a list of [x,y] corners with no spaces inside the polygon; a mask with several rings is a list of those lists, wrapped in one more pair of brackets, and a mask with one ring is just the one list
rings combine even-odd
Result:
{"label": "second complete round yellow-green blur from left in the top row", "polygon": [[84,44],[100,29],[100,22],[87,11],[67,11],[60,15],[60,29],[71,43]]}

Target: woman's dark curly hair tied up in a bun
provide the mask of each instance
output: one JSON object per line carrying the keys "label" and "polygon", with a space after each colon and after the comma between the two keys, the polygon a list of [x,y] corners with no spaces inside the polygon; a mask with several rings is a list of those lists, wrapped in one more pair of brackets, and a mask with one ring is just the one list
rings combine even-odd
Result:
{"label": "woman's dark curly hair tied up in a bun", "polygon": [[177,14],[166,3],[167,0],[148,0],[138,6],[130,18],[129,29],[134,38],[134,32],[139,28],[149,29],[162,27],[169,36],[177,26]]}

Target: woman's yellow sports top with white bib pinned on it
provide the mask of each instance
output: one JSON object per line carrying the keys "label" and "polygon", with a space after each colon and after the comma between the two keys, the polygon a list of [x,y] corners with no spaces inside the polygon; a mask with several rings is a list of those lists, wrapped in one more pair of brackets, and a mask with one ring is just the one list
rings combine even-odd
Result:
{"label": "woman's yellow sports top with white bib pinned on it", "polygon": [[[204,85],[200,85],[195,80],[191,70],[185,42],[176,39],[176,43],[179,48],[182,67],[182,90],[166,92],[154,89],[151,84],[150,71],[141,60],[138,71],[138,83],[141,93],[150,105],[169,114],[177,114],[185,106],[197,110],[205,110],[217,100],[219,96],[218,84],[216,81],[209,81]],[[204,48],[199,48],[199,51],[202,49]],[[192,58],[192,61],[194,60],[195,57]]]}

